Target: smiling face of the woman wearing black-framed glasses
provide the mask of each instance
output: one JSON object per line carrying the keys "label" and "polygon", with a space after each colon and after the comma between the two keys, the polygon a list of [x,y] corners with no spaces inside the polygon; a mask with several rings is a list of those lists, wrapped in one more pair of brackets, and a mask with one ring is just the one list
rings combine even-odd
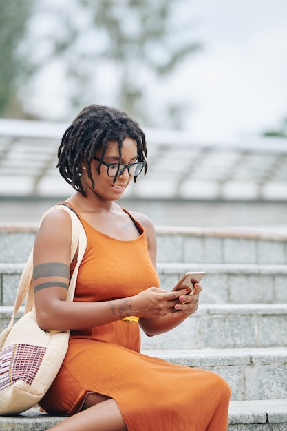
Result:
{"label": "smiling face of the woman wearing black-framed glasses", "polygon": [[[120,160],[124,165],[131,165],[131,163],[137,161],[137,152],[136,141],[131,138],[125,138],[125,140],[123,140],[122,157],[120,160],[118,143],[110,142],[105,151],[103,162],[118,165]],[[100,151],[96,152],[95,157],[100,158]],[[91,180],[89,180],[87,176],[87,170],[83,169],[82,171],[82,184],[87,196],[96,193],[96,195],[103,200],[119,200],[123,196],[132,178],[128,170],[124,169],[123,173],[117,176],[116,181],[114,181],[114,176],[109,176],[107,174],[108,167],[104,164],[100,165],[100,174],[98,174],[98,165],[98,160],[93,159],[91,162],[91,172],[95,182],[94,188],[92,187]],[[109,174],[113,174],[112,167],[109,168]]]}

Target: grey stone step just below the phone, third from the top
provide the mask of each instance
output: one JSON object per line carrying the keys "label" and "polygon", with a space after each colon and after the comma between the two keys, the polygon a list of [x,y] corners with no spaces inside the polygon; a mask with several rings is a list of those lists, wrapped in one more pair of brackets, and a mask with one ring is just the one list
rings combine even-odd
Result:
{"label": "grey stone step just below the phone, third from the top", "polygon": [[[0,307],[0,329],[11,306]],[[21,314],[20,314],[21,315]],[[201,304],[180,326],[156,337],[142,337],[142,348],[287,347],[287,304]]]}

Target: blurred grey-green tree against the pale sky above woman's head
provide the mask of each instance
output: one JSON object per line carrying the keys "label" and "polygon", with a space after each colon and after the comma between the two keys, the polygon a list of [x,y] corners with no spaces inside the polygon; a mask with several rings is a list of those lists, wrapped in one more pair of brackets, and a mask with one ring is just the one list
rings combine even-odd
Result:
{"label": "blurred grey-green tree against the pale sky above woman's head", "polygon": [[[74,107],[88,103],[91,92],[96,98],[103,87],[113,87],[118,107],[146,125],[157,125],[159,116],[153,118],[150,113],[149,104],[154,101],[149,99],[149,85],[169,76],[182,60],[200,48],[192,40],[191,16],[184,17],[184,4],[180,8],[180,3],[76,0],[76,14],[73,8],[70,12],[62,10],[65,31],[58,32],[53,55],[65,57]],[[107,72],[105,83],[100,77],[102,69],[113,71]],[[180,101],[167,101],[161,109],[170,127],[180,127]]]}

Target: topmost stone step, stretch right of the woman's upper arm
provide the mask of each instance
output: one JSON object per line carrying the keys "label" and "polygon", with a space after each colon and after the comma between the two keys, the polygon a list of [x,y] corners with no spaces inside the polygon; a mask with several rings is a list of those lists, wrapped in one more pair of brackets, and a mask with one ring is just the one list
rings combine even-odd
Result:
{"label": "topmost stone step, stretch right of the woman's upper arm", "polygon": [[156,234],[158,262],[287,264],[286,233],[158,226]]}

